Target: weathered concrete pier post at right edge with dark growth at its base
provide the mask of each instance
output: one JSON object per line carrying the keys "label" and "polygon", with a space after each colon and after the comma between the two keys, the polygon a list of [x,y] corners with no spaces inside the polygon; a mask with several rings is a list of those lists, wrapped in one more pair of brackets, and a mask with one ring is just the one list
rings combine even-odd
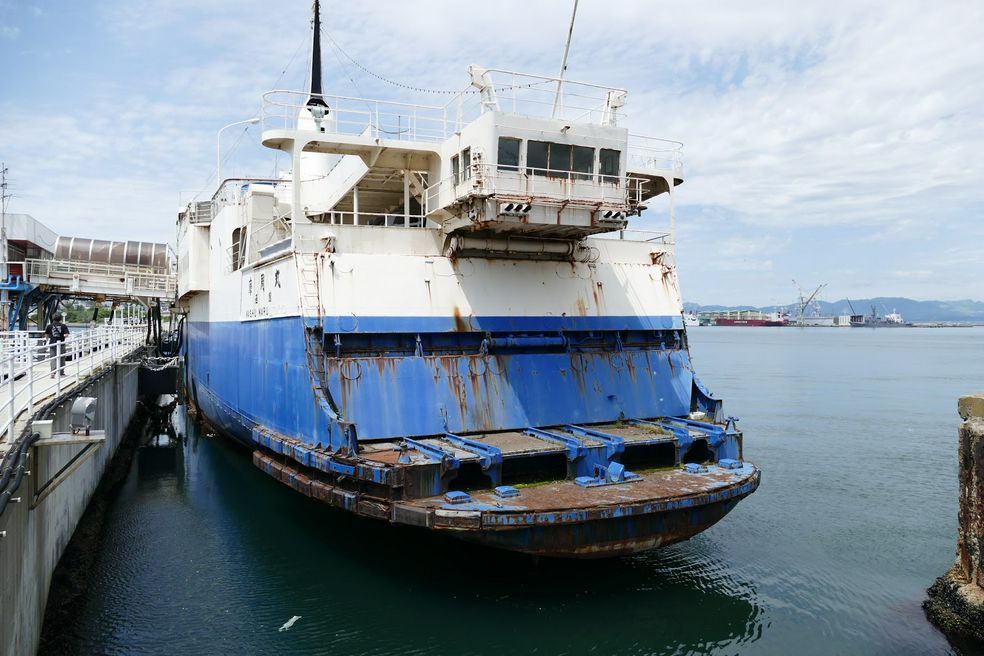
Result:
{"label": "weathered concrete pier post at right edge with dark growth at its base", "polygon": [[944,633],[984,645],[984,393],[957,404],[960,526],[957,562],[929,589],[926,615]]}

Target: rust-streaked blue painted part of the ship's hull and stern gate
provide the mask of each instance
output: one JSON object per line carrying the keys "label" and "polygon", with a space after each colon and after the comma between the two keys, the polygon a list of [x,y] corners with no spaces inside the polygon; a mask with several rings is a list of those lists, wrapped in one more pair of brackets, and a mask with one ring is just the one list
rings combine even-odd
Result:
{"label": "rust-streaked blue painted part of the ship's hull and stern gate", "polygon": [[[412,330],[448,329],[455,321],[447,317],[427,325],[436,321],[432,319],[373,317],[360,320],[357,328],[395,333],[411,325]],[[340,320],[326,317],[325,331]],[[665,330],[678,320],[468,319],[478,330]],[[349,333],[355,330],[347,327]],[[253,428],[263,427],[336,451],[349,446],[349,424],[358,439],[366,440],[599,423],[685,415],[690,410],[693,374],[686,350],[339,358],[330,357],[329,347],[324,381],[316,382],[308,365],[307,339],[299,317],[190,322],[187,354],[195,393],[221,415],[222,428],[244,441],[252,441]],[[319,403],[315,387],[320,382],[337,416]],[[386,412],[379,411],[381,399]]]}

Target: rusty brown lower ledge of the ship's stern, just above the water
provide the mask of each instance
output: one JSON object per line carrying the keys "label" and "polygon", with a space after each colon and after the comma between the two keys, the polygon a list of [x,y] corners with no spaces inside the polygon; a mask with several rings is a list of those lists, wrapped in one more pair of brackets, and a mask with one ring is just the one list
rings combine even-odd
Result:
{"label": "rusty brown lower ledge of the ship's stern, just above the water", "polygon": [[[377,450],[376,455],[382,451]],[[687,539],[727,514],[754,492],[759,471],[711,465],[705,473],[667,469],[622,485],[583,488],[571,481],[525,487],[508,500],[491,491],[450,505],[443,497],[385,499],[345,489],[262,450],[253,463],[292,489],[329,505],[374,519],[445,531],[497,548],[546,556],[607,557]]]}

